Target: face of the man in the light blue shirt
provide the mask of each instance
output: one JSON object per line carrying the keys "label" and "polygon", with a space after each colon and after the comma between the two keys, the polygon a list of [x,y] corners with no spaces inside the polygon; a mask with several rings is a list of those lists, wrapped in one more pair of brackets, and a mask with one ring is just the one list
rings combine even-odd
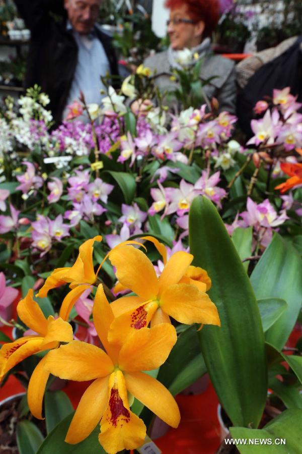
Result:
{"label": "face of the man in the light blue shirt", "polygon": [[81,35],[87,35],[93,28],[100,5],[101,0],[64,0],[72,28]]}

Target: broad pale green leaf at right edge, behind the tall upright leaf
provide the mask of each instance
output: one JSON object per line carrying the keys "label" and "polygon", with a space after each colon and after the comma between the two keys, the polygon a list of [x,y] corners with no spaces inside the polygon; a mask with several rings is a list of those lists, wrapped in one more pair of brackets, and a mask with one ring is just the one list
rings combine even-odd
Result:
{"label": "broad pale green leaf at right edge, behind the tall upright leaf", "polygon": [[282,298],[287,303],[287,309],[265,335],[267,342],[278,350],[284,347],[301,307],[301,272],[299,254],[275,233],[251,275],[257,299]]}

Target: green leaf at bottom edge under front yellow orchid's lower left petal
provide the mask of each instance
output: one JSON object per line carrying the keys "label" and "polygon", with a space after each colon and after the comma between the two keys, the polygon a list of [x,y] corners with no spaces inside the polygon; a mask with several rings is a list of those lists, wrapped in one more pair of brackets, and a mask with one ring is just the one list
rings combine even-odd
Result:
{"label": "green leaf at bottom edge under front yellow orchid's lower left petal", "polygon": [[99,424],[91,435],[81,441],[81,443],[65,443],[64,439],[72,417],[73,413],[55,426],[55,428],[45,438],[44,442],[40,446],[40,449],[37,451],[37,454],[105,454],[105,451],[98,440],[98,435],[100,433]]}

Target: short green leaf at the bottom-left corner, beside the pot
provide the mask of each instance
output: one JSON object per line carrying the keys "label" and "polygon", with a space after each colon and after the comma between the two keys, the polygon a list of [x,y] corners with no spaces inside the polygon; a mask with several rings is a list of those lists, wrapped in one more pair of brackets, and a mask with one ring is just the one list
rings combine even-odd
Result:
{"label": "short green leaf at the bottom-left corner, beside the pot", "polygon": [[17,424],[17,445],[19,454],[36,454],[44,440],[43,435],[31,421],[21,421]]}

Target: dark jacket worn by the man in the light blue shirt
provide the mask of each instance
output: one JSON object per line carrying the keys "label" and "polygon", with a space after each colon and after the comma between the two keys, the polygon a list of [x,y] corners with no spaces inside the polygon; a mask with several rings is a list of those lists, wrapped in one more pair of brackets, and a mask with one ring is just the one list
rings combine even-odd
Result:
{"label": "dark jacket worn by the man in the light blue shirt", "polygon": [[[31,31],[25,86],[41,86],[50,98],[49,108],[56,123],[63,110],[78,61],[78,45],[72,30],[66,30],[66,12],[60,0],[15,0],[20,15]],[[111,38],[95,27],[110,65],[112,75],[118,67]],[[114,82],[112,85],[115,86]]]}

